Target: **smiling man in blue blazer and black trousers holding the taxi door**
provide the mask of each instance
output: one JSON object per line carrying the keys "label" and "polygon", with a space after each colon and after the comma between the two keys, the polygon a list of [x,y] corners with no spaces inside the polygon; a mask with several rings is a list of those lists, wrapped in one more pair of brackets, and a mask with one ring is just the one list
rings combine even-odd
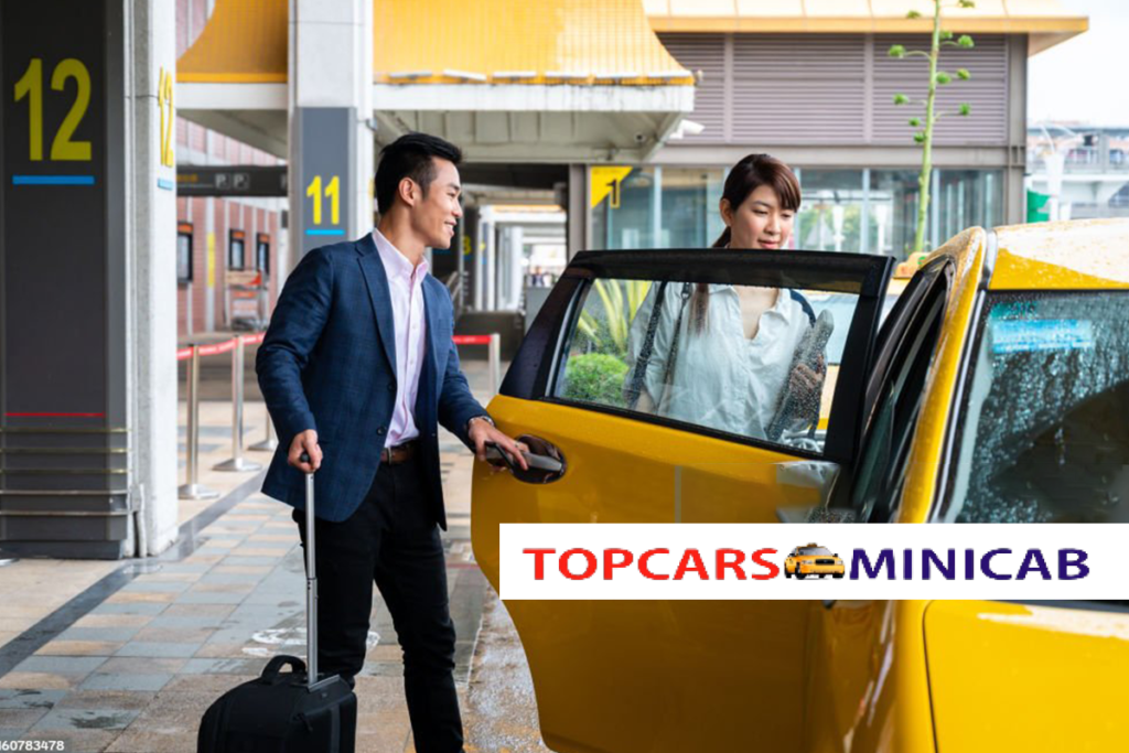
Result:
{"label": "smiling man in blue blazer and black trousers holding the taxi door", "polygon": [[303,473],[317,472],[321,669],[350,683],[360,672],[375,581],[403,647],[420,753],[463,750],[437,424],[479,459],[495,443],[526,467],[523,447],[471,395],[452,342],[450,296],[427,273],[425,249],[449,247],[463,214],[461,158],[422,133],[385,147],[376,229],[306,254],[255,362],[280,439],[263,491],[297,508],[304,546]]}

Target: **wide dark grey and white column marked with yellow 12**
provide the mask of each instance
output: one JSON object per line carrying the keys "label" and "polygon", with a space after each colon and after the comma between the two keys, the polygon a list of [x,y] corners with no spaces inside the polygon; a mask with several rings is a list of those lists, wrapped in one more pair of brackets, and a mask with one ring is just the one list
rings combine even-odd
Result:
{"label": "wide dark grey and white column marked with yellow 12", "polygon": [[174,29],[159,0],[0,3],[0,65],[42,124],[76,102],[54,77],[89,87],[60,154],[28,95],[0,99],[6,550],[116,559],[175,536]]}

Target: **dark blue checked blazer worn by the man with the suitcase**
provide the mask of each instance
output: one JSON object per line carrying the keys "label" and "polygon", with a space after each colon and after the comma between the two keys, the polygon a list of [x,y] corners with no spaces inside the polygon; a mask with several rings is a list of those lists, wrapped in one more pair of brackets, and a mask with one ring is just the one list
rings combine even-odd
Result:
{"label": "dark blue checked blazer worn by the man with the suitcase", "polygon": [[[423,279],[423,305],[415,426],[429,499],[421,502],[446,529],[437,424],[470,446],[466,424],[487,412],[458,366],[450,295],[430,274]],[[371,234],[306,254],[287,279],[255,359],[279,436],[263,492],[305,509],[305,480],[287,465],[287,454],[295,435],[314,429],[323,453],[314,474],[315,513],[326,520],[349,518],[380,465],[396,399],[395,364],[388,278]]]}

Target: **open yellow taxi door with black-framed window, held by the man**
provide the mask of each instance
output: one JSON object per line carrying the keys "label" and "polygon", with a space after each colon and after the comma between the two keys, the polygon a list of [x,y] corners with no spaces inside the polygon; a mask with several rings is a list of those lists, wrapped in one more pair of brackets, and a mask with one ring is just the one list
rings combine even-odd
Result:
{"label": "open yellow taxi door with black-framed window, held by the man", "polygon": [[[472,537],[491,585],[502,523],[770,523],[817,508],[859,444],[891,266],[816,252],[578,254],[490,404],[499,428],[563,467],[475,467]],[[753,332],[743,295],[771,303]],[[822,375],[805,394],[797,359]],[[506,606],[554,750],[803,739],[808,602]]]}

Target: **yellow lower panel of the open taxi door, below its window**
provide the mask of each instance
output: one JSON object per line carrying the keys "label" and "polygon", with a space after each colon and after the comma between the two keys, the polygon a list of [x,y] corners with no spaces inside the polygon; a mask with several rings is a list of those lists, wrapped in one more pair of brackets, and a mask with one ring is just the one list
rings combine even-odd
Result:
{"label": "yellow lower panel of the open taxi door, below its window", "polygon": [[[545,485],[475,464],[472,541],[496,589],[501,523],[769,523],[777,507],[819,498],[777,482],[779,464],[793,459],[780,453],[549,402],[499,396],[490,414],[510,436],[536,434],[564,448],[569,462]],[[506,608],[554,750],[726,750],[749,734],[750,706],[764,712],[756,736],[765,746],[785,750],[802,734],[795,701],[804,692],[806,602],[511,601]]]}

